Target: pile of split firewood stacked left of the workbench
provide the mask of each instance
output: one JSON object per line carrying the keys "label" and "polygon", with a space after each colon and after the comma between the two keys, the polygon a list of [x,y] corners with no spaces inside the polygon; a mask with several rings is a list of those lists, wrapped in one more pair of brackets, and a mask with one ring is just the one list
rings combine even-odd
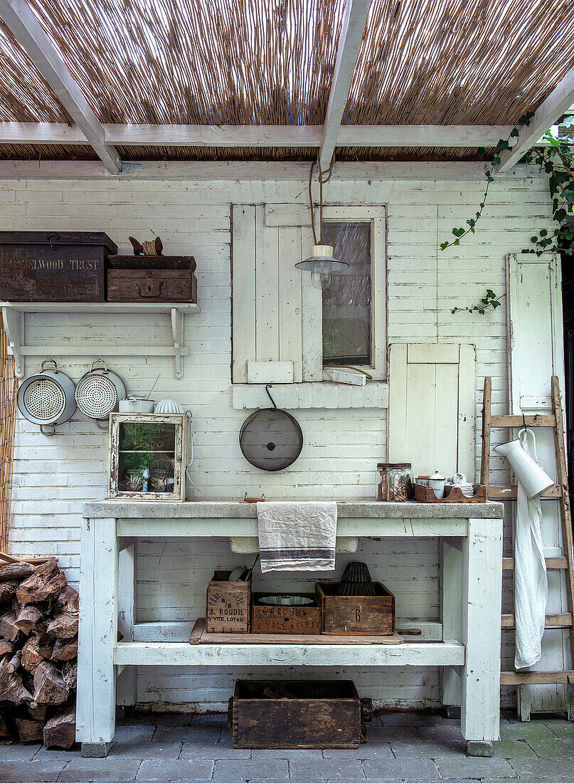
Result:
{"label": "pile of split firewood stacked left of the workbench", "polygon": [[0,565],[0,738],[74,744],[78,615],[55,558]]}

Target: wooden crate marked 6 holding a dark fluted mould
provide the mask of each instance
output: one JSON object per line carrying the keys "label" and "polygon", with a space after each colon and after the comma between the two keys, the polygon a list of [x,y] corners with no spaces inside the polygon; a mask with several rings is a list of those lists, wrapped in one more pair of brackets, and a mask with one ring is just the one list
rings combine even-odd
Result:
{"label": "wooden crate marked 6 holding a dark fluted mould", "polygon": [[338,582],[315,585],[321,607],[321,633],[382,635],[394,633],[395,597],[380,582],[373,596],[336,595]]}

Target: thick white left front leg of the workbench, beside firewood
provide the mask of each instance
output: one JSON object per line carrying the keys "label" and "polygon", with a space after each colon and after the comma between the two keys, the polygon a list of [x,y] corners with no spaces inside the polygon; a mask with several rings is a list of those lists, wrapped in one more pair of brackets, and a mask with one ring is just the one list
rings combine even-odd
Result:
{"label": "thick white left front leg of the workbench, beside firewood", "polygon": [[107,756],[116,723],[117,538],[113,518],[84,519],[80,562],[76,739]]}

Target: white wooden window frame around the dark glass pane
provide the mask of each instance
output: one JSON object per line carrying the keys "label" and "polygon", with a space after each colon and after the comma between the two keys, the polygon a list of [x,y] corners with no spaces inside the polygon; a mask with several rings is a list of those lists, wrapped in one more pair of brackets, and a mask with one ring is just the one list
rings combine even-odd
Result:
{"label": "white wooden window frame around the dark glass pane", "polygon": [[[318,218],[318,215],[317,215]],[[386,258],[386,208],[379,207],[323,207],[323,221],[329,223],[371,223],[371,365],[357,365],[374,381],[387,377],[387,258]],[[318,223],[316,224],[318,225]],[[303,227],[303,251],[305,240],[313,244],[310,228]],[[306,236],[307,235],[307,236]],[[322,381],[323,375],[323,308],[321,291],[310,284],[310,272],[303,272],[302,300],[302,350],[303,381]]]}

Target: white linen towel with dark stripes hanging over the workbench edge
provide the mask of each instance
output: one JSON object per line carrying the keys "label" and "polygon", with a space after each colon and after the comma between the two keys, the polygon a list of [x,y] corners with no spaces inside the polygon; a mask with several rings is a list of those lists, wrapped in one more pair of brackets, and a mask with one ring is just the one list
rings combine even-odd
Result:
{"label": "white linen towel with dark stripes hanging over the workbench edge", "polygon": [[337,504],[257,503],[261,571],[334,571]]}

